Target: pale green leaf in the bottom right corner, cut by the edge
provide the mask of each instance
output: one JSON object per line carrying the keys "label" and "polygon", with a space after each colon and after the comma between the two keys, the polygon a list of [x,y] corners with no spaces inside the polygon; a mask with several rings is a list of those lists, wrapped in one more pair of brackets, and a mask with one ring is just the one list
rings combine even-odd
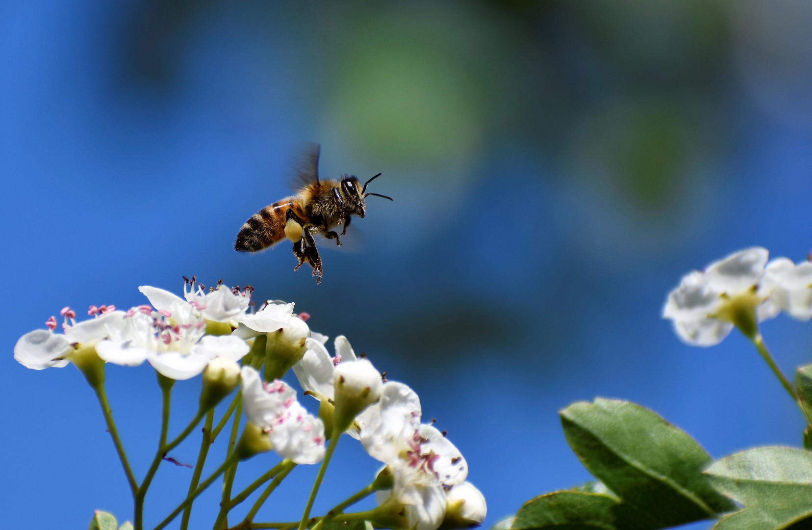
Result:
{"label": "pale green leaf in the bottom right corner, cut by the edge", "polygon": [[812,528],[812,452],[757,447],[722,458],[706,473],[715,489],[745,506],[717,530]]}

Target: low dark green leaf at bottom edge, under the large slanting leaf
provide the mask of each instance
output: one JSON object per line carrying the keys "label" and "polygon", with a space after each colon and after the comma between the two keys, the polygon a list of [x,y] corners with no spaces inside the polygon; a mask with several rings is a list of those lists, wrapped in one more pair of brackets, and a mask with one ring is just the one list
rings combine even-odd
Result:
{"label": "low dark green leaf at bottom edge, under the large slanting leaf", "polygon": [[659,521],[607,493],[569,489],[526,502],[516,513],[512,530],[654,530]]}

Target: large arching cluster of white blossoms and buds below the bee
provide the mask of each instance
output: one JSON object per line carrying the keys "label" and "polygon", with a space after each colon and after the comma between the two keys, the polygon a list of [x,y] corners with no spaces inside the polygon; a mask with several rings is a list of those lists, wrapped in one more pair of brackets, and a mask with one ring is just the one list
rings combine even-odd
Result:
{"label": "large arching cluster of white blossoms and buds below the bee", "polygon": [[[63,333],[54,332],[51,317],[47,329],[20,337],[15,359],[35,370],[71,361],[82,370],[71,355],[90,349],[106,363],[133,367],[147,361],[171,380],[203,374],[201,411],[241,384],[248,418],[237,449],[241,458],[273,449],[294,463],[320,463],[326,440],[347,432],[391,477],[387,489],[378,491],[378,526],[436,530],[443,522],[444,528],[482,523],[485,498],[465,481],[468,465],[445,432],[421,423],[417,393],[385,380],[363,355],[356,357],[346,337],[335,339],[331,357],[327,337],[311,332],[308,315],[294,314],[292,303],[266,302],[252,313],[247,312],[250,287],[240,291],[218,285],[206,292],[202,286],[195,290],[194,278],[187,285],[185,299],[142,286],[149,305],[128,311],[91,306],[93,318],[78,323],[66,307]],[[243,359],[249,352],[250,363]],[[319,400],[319,417],[279,379],[288,368],[304,392]]]}

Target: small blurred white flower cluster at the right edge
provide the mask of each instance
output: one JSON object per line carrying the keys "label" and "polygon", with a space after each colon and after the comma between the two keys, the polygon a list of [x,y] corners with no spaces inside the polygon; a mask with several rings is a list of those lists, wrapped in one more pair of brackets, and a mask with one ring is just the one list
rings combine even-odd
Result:
{"label": "small blurred white flower cluster at the right edge", "polygon": [[812,263],[773,258],[752,247],[689,272],[668,294],[663,318],[689,345],[719,344],[736,326],[749,338],[758,323],[781,311],[793,319],[812,318]]}

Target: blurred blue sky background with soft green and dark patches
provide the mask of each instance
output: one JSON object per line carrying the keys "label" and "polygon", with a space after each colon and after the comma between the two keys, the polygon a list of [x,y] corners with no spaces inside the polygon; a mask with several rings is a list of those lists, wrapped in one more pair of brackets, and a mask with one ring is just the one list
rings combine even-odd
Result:
{"label": "blurred blue sky background with soft green and dark patches", "polygon": [[[732,250],[812,250],[812,8],[771,5],[0,3],[4,524],[84,528],[132,506],[80,373],[25,369],[17,338],[63,306],[128,307],[139,285],[179,293],[192,274],[296,302],[416,389],[468,459],[486,526],[589,479],[557,415],[577,400],[648,406],[715,457],[799,445],[797,410],[744,339],[690,348],[659,316],[681,274]],[[287,194],[305,140],[322,142],[322,176],[382,172],[374,191],[395,198],[322,250],[322,285],[287,245],[232,250]],[[786,372],[812,362],[810,324],[762,331]],[[107,374],[143,476],[153,371]],[[198,387],[175,386],[173,432]],[[193,463],[198,445],[172,456]],[[275,461],[241,465],[235,489]],[[315,511],[377,467],[343,440]],[[315,472],[294,471],[259,519],[296,519]],[[150,528],[190,476],[162,465]]]}

